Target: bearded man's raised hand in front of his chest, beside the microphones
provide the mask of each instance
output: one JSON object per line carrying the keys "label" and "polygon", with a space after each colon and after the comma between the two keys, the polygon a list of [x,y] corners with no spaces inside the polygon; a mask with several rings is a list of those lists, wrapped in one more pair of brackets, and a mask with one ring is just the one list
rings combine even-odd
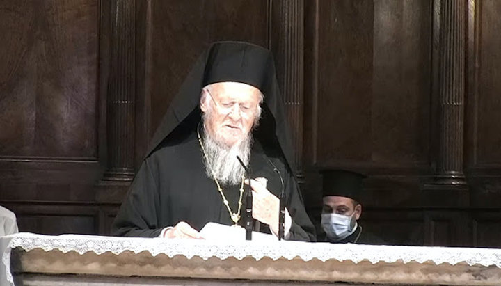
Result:
{"label": "bearded man's raised hand in front of his chest, beside the microphones", "polygon": [[[245,183],[248,184],[248,180]],[[253,189],[253,218],[266,223],[277,234],[280,199],[268,191],[262,182],[250,180],[250,187]]]}

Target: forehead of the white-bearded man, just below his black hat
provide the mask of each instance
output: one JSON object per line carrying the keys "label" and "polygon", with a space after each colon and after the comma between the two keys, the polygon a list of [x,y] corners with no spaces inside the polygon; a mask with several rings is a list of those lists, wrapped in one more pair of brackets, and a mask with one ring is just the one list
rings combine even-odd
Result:
{"label": "forehead of the white-bearded man, just below his black hat", "polygon": [[261,91],[250,84],[223,81],[206,86],[216,99],[231,99],[239,102],[259,102]]}

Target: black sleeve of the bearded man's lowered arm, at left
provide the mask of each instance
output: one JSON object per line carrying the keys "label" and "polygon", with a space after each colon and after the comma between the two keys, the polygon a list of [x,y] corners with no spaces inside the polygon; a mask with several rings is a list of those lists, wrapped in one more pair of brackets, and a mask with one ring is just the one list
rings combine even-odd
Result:
{"label": "black sleeve of the bearded man's lowered arm, at left", "polygon": [[157,181],[148,160],[143,161],[127,198],[111,226],[111,235],[123,237],[158,237],[159,228],[157,209],[159,196]]}

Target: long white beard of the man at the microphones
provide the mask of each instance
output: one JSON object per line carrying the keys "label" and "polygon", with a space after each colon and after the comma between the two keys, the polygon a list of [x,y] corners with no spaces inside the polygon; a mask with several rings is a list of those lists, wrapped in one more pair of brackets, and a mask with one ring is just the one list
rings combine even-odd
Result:
{"label": "long white beard of the man at the microphones", "polygon": [[223,185],[240,185],[245,175],[244,168],[240,165],[237,156],[248,166],[250,159],[250,147],[253,142],[249,134],[244,140],[228,147],[224,143],[213,138],[205,128],[203,147],[205,150],[205,173],[207,177],[218,180]]}

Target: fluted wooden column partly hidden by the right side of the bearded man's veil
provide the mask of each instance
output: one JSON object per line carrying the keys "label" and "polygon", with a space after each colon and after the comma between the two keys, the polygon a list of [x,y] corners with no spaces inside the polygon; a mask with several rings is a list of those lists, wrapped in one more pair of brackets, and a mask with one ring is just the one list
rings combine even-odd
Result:
{"label": "fluted wooden column partly hidden by the right side of the bearded man's veil", "polygon": [[304,1],[271,1],[270,48],[294,142],[296,173],[303,172]]}

